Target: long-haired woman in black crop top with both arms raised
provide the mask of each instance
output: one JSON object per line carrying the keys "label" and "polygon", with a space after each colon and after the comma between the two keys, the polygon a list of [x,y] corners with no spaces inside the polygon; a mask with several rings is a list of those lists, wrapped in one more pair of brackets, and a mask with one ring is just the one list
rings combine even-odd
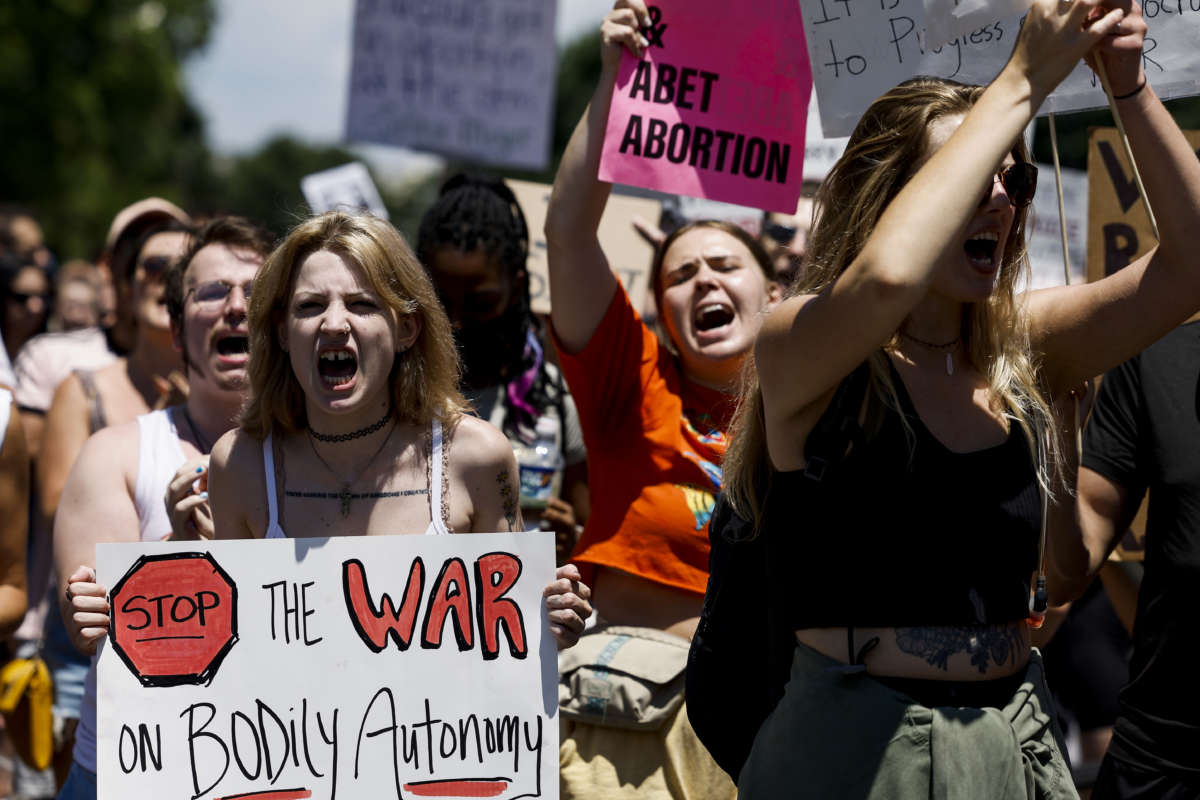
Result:
{"label": "long-haired woman in black crop top with both arms raised", "polygon": [[[798,640],[739,796],[1075,796],[1026,621],[1039,489],[1068,494],[1074,450],[1052,403],[1200,306],[1200,162],[1146,86],[1145,34],[1135,2],[1036,0],[988,88],[896,86],[822,185],[810,265],[763,324],[725,461]],[[1021,132],[1085,55],[1111,78],[1160,245],[1019,297],[1037,178]],[[865,389],[830,404],[864,363]],[[811,469],[829,415],[852,444]],[[1050,545],[1051,600],[1081,552]]]}

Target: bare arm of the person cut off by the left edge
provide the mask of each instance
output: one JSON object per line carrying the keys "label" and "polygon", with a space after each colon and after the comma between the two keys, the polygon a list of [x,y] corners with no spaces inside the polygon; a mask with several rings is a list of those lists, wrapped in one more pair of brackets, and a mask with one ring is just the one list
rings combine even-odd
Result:
{"label": "bare arm of the person cut off by the left edge", "polygon": [[25,615],[25,541],[29,535],[29,452],[16,404],[0,441],[0,636]]}

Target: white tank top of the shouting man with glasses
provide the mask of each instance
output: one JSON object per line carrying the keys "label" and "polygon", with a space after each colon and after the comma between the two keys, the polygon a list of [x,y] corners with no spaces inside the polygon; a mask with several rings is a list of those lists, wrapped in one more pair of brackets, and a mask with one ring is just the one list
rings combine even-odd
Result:
{"label": "white tank top of the shouting man with glasses", "polygon": [[[175,409],[138,417],[138,479],[133,485],[133,505],[138,510],[138,533],[143,542],[161,541],[170,533],[163,498],[167,485],[185,461],[175,428]],[[83,685],[74,759],[84,769],[96,771],[96,656],[92,656]]]}

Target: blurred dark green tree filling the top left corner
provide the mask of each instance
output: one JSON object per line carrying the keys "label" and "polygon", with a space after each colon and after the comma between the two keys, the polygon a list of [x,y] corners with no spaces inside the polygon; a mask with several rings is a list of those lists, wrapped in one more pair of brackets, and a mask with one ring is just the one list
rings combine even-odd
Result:
{"label": "blurred dark green tree filling the top left corner", "polygon": [[95,257],[140,197],[211,191],[180,64],[214,22],[214,0],[0,2],[0,199],[31,206],[60,257]]}

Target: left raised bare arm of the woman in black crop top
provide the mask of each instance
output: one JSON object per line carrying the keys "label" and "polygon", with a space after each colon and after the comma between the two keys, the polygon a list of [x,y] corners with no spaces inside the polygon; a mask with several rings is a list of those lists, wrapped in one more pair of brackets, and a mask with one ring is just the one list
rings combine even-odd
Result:
{"label": "left raised bare arm of the woman in black crop top", "polygon": [[826,290],[769,314],[755,356],[773,458],[776,437],[803,441],[833,387],[925,296],[938,260],[961,242],[977,199],[1042,101],[1123,16],[1110,11],[1085,29],[1099,7],[1099,0],[1037,0],[1008,64],[887,206],[857,258]]}

